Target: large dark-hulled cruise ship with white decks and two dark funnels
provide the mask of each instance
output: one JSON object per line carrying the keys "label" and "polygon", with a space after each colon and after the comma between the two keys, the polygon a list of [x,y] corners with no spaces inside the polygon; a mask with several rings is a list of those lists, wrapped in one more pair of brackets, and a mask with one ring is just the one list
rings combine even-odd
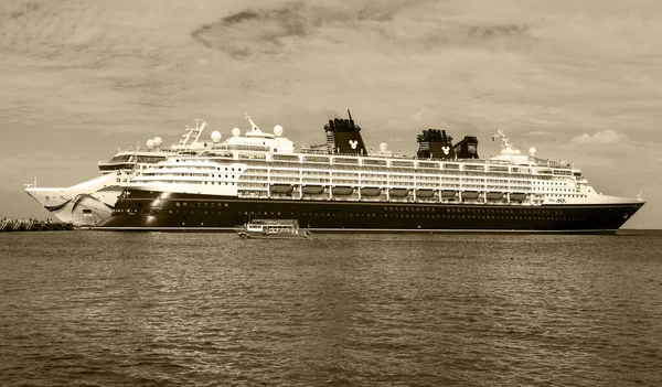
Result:
{"label": "large dark-hulled cruise ship with white decks and two dark funnels", "polygon": [[[349,111],[348,111],[349,112]],[[106,230],[234,230],[253,218],[297,219],[317,232],[613,234],[644,204],[598,193],[573,164],[522,154],[502,130],[501,154],[445,130],[417,136],[415,157],[369,153],[361,128],[335,118],[325,143],[296,150],[250,123],[244,135],[143,171],[119,196]]]}

